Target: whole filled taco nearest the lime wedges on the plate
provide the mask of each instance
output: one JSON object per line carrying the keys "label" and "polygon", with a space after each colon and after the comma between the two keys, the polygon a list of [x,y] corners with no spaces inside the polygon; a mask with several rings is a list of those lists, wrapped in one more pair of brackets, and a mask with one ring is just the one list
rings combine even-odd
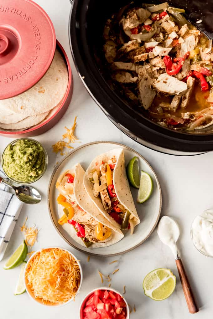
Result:
{"label": "whole filled taco nearest the lime wedges on the plate", "polygon": [[129,182],[122,148],[97,156],[84,175],[84,187],[95,206],[115,227],[131,228],[140,223]]}

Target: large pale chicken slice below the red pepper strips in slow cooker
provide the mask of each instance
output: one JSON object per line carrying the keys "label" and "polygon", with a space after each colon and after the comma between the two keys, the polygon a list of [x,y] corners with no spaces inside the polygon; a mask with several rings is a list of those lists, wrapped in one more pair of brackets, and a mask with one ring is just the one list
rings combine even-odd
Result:
{"label": "large pale chicken slice below the red pepper strips in slow cooker", "polygon": [[152,87],[156,91],[166,95],[184,94],[187,91],[186,83],[166,73],[161,74]]}

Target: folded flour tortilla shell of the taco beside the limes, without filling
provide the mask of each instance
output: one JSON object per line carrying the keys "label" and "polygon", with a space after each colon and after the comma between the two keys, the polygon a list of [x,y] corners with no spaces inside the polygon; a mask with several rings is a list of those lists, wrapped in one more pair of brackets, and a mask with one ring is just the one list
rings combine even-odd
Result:
{"label": "folded flour tortilla shell of the taco beside the limes, without filling", "polygon": [[93,174],[95,170],[100,171],[99,167],[101,166],[102,161],[104,163],[107,163],[113,157],[115,157],[116,159],[116,165],[113,173],[113,185],[115,188],[115,193],[118,197],[119,202],[134,216],[134,218],[132,218],[131,220],[133,222],[133,226],[136,226],[140,223],[140,219],[135,208],[134,200],[129,187],[129,182],[126,177],[125,158],[122,148],[117,148],[103,153],[97,156],[91,162],[84,175],[84,187],[87,191],[88,196],[92,199],[93,203],[103,214],[103,216],[108,219],[114,226],[120,227],[120,225],[105,211],[101,199],[93,195],[93,183],[90,182],[91,174]]}

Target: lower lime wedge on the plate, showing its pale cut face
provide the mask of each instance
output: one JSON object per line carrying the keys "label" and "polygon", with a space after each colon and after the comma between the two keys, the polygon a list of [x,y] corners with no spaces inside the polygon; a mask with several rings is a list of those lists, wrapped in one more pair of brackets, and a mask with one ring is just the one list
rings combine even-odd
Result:
{"label": "lower lime wedge on the plate, showing its pale cut face", "polygon": [[152,189],[153,182],[151,176],[148,173],[141,171],[141,181],[137,202],[140,204],[144,203],[150,197]]}

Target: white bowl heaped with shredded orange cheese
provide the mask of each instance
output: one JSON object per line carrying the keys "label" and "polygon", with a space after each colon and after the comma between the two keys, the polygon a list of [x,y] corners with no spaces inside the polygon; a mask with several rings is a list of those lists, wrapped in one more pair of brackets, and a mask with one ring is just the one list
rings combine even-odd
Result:
{"label": "white bowl heaped with shredded orange cheese", "polygon": [[82,284],[82,268],[70,251],[47,247],[27,261],[24,283],[28,295],[45,306],[59,307],[75,300]]}

